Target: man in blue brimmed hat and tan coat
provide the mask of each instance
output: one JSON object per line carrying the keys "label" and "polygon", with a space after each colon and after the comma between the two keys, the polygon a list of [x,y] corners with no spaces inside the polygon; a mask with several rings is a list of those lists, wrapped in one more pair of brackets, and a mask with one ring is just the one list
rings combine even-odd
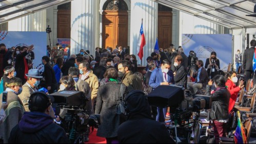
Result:
{"label": "man in blue brimmed hat and tan coat", "polygon": [[32,93],[38,90],[37,86],[40,84],[40,79],[43,77],[40,76],[38,69],[29,69],[28,74],[25,74],[28,79],[27,82],[22,86],[22,93],[18,97],[22,100],[24,108],[26,111],[29,111],[28,101]]}

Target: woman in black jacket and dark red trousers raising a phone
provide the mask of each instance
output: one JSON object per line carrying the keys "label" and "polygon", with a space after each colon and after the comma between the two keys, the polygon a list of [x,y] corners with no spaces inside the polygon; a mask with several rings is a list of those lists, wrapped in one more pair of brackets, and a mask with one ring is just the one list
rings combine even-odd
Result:
{"label": "woman in black jacket and dark red trousers raising a phone", "polygon": [[[214,83],[216,89],[211,92]],[[225,87],[226,79],[222,75],[216,75],[206,86],[206,95],[212,97],[212,107],[208,119],[213,121],[215,142],[219,143],[220,137],[226,136],[228,122],[228,105],[230,93]]]}

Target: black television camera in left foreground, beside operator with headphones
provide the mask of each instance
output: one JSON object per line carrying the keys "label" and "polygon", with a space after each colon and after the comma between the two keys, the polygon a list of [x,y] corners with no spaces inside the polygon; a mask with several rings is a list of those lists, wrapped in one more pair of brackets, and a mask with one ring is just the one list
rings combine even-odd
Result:
{"label": "black television camera in left foreground, beside operator with headphones", "polygon": [[99,127],[100,115],[89,115],[85,109],[89,101],[82,91],[58,91],[50,94],[54,98],[55,114],[60,115],[60,126],[64,128],[70,143],[84,143],[90,133],[90,126]]}

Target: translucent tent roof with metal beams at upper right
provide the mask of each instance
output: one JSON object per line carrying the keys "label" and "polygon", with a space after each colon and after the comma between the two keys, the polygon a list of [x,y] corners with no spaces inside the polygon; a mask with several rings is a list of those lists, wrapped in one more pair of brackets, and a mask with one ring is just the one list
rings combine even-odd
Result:
{"label": "translucent tent roof with metal beams at upper right", "polygon": [[151,0],[229,29],[256,27],[256,0]]}

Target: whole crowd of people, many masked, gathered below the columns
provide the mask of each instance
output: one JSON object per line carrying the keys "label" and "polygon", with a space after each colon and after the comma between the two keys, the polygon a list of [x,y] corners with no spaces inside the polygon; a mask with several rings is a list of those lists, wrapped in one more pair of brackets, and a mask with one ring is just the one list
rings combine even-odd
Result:
{"label": "whole crowd of people, many masked, gathered below the columns", "polygon": [[[255,45],[252,41],[250,49],[255,49]],[[130,54],[129,46],[96,47],[95,58],[88,50],[70,55],[68,46],[65,49],[60,44],[54,49],[47,46],[47,56],[41,59],[43,74],[33,68],[33,45],[11,49],[8,51],[5,44],[0,44],[0,93],[8,92],[7,104],[0,104],[0,136],[4,143],[67,143],[64,129],[53,123],[53,119],[64,119],[65,111],[54,113],[48,95],[62,90],[84,93],[88,101],[83,107],[88,114],[101,115],[97,136],[105,137],[107,143],[174,142],[162,123],[169,116],[169,108],[149,106],[146,97],[156,87],[170,84],[183,86],[192,95],[206,89],[215,104],[210,110],[215,137],[224,136],[228,114],[244,87],[243,81],[236,85],[235,71],[226,77],[219,75],[220,60],[215,52],[205,65],[197,60],[196,70],[191,71],[191,55],[186,56],[182,46],[176,50],[173,44],[167,49],[160,48],[159,53],[151,53],[142,71],[138,70],[136,56]],[[249,69],[252,69],[252,64],[248,66],[245,60],[249,54],[245,52],[243,58],[246,75],[251,75]],[[238,66],[241,59],[238,55]],[[120,99],[126,103],[127,116],[116,113]]]}

